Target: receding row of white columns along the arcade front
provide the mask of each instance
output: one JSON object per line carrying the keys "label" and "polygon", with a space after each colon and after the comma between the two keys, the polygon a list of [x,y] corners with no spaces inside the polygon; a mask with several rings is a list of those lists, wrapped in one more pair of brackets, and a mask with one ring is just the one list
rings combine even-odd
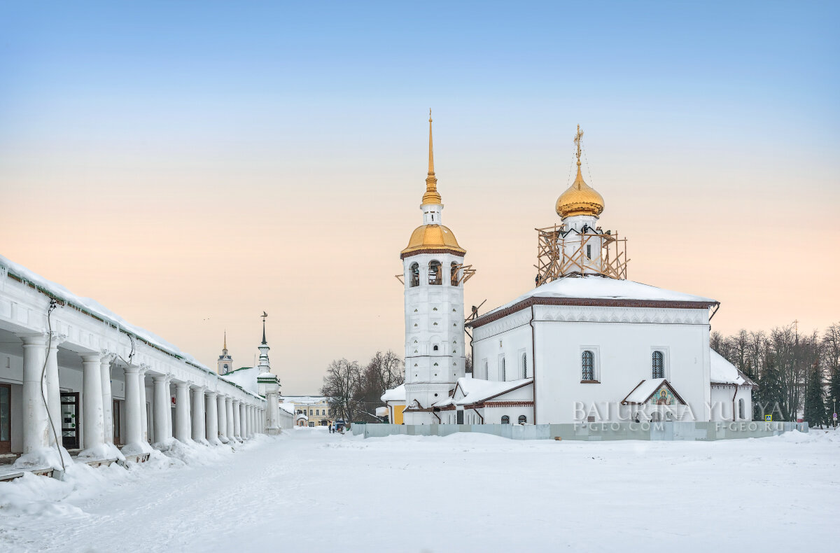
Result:
{"label": "receding row of white columns along the arcade front", "polygon": [[[24,342],[23,454],[34,459],[45,449],[55,448],[55,435],[61,440],[57,350],[65,337],[55,333],[22,334],[19,337]],[[111,366],[116,355],[102,351],[80,356],[82,443],[79,456],[103,459],[116,454],[111,391]],[[150,451],[146,414],[147,374],[152,380],[155,445],[166,445],[173,438],[183,443],[220,445],[248,440],[265,432],[265,408],[259,398],[249,403],[234,397],[234,389],[228,395],[220,390],[211,390],[202,383],[176,380],[171,374],[152,372],[150,366],[126,365],[124,362],[120,366],[123,366],[125,374],[123,455]],[[42,370],[45,371],[43,393],[46,405],[42,397]],[[172,384],[175,386],[174,420],[171,415]],[[55,425],[55,435],[50,429],[50,420]]]}

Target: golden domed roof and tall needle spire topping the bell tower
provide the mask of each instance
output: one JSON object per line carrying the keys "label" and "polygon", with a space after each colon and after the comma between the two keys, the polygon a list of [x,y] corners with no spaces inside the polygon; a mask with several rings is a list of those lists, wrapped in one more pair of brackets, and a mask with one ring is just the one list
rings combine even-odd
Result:
{"label": "golden domed roof and tall needle spire topping the bell tower", "polygon": [[444,203],[438,192],[438,177],[434,175],[434,154],[432,148],[432,110],[428,116],[428,174],[426,176],[426,192],[420,205],[423,210],[423,224],[414,229],[408,245],[400,257],[419,253],[449,252],[455,255],[465,255],[466,250],[458,245],[455,235],[441,224],[441,211]]}

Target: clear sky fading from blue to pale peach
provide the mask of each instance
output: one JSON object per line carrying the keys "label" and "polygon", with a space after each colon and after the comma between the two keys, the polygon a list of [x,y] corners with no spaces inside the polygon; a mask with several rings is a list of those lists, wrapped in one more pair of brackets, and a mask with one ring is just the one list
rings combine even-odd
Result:
{"label": "clear sky fading from blue to pale peach", "polygon": [[[117,5],[118,4],[118,5]],[[575,125],[628,276],[840,320],[837,3],[3,3],[0,253],[286,395],[402,355],[427,111],[466,302],[533,283]]]}

